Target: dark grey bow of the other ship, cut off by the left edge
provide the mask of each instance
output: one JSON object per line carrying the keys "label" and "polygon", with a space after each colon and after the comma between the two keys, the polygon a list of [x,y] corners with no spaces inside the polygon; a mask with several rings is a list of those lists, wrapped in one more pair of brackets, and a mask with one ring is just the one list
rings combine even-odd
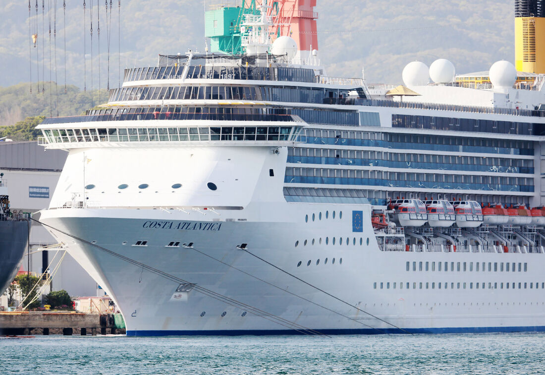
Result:
{"label": "dark grey bow of the other ship, cut off by the left edge", "polygon": [[28,245],[28,215],[12,212],[8,181],[0,173],[0,293],[13,281]]}

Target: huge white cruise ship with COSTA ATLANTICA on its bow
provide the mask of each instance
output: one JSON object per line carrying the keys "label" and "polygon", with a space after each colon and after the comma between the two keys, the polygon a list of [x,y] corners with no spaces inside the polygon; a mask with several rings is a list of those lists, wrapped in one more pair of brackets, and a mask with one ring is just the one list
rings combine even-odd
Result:
{"label": "huge white cruise ship with COSTA ATLANTICA on its bow", "polygon": [[544,76],[331,77],[316,2],[278,3],[38,126],[69,154],[35,219],[127,335],[545,330]]}

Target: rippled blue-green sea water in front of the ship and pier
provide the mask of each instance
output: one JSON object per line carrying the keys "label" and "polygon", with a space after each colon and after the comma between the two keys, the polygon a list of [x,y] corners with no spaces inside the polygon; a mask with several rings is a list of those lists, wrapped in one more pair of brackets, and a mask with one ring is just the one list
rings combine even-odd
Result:
{"label": "rippled blue-green sea water in front of the ship and pier", "polygon": [[543,374],[545,334],[0,338],[22,374]]}

